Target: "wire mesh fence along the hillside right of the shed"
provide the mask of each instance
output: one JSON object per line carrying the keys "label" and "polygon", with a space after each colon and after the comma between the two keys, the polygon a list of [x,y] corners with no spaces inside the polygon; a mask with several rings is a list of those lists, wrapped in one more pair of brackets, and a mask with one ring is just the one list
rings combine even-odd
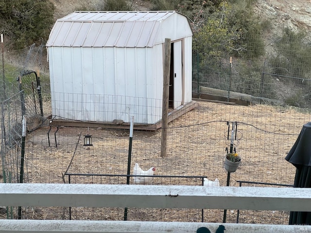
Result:
{"label": "wire mesh fence along the hillside right of the shed", "polygon": [[[278,70],[293,70],[295,66],[298,68],[303,64],[282,62],[283,67],[277,68],[271,58],[249,60],[247,64],[242,59],[232,58],[229,55],[215,57],[214,61],[211,66],[200,60],[199,53],[193,54],[192,90],[199,96],[206,94],[209,95],[209,99],[215,100],[235,99],[310,108],[309,75],[294,71],[284,73]],[[306,68],[300,67],[299,70],[301,69]]]}

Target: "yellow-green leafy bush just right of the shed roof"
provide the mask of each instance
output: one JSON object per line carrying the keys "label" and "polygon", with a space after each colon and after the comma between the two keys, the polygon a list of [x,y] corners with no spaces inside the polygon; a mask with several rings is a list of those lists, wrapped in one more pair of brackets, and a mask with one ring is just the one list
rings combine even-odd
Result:
{"label": "yellow-green leafy bush just right of the shed roof", "polygon": [[264,54],[264,42],[259,19],[251,4],[238,0],[234,4],[222,2],[193,36],[193,48],[200,51],[202,60],[211,56],[230,54],[257,58]]}

